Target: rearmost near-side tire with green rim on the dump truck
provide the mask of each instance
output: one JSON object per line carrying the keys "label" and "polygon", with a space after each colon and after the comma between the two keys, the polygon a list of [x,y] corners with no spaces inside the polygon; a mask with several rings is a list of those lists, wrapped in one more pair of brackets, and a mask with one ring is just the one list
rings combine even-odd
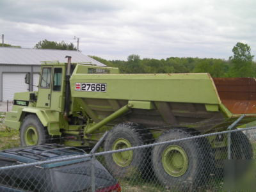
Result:
{"label": "rearmost near-side tire with green rim on the dump truck", "polygon": [[[184,129],[163,132],[156,143],[194,136]],[[157,145],[152,149],[156,178],[170,190],[185,191],[205,184],[214,164],[206,138]]]}

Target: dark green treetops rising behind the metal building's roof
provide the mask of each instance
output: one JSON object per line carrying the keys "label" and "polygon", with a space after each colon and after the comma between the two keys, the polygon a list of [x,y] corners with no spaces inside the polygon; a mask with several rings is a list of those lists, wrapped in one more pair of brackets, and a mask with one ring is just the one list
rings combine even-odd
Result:
{"label": "dark green treetops rising behind the metal building's roof", "polygon": [[64,41],[52,42],[48,40],[42,40],[35,45],[35,49],[61,49],[61,50],[77,50],[74,44],[67,44]]}

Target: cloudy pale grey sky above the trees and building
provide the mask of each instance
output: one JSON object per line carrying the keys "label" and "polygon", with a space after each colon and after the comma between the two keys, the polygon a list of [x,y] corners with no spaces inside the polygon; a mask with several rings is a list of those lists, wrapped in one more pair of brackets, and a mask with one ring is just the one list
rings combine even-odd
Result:
{"label": "cloudy pale grey sky above the trees and building", "polygon": [[4,43],[74,43],[106,60],[169,57],[228,60],[237,42],[256,54],[255,0],[0,0]]}

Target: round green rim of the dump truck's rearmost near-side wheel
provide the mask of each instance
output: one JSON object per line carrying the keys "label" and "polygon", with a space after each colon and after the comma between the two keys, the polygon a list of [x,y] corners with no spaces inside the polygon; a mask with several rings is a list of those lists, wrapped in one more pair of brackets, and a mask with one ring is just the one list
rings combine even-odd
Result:
{"label": "round green rim of the dump truck's rearmost near-side wheel", "polygon": [[188,156],[182,147],[170,145],[164,149],[162,164],[166,173],[180,177],[188,170]]}

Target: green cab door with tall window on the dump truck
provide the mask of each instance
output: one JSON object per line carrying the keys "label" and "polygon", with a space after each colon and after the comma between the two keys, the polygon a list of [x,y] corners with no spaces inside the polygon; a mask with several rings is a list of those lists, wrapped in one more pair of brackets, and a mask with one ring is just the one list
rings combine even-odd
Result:
{"label": "green cab door with tall window on the dump truck", "polygon": [[40,84],[38,87],[38,98],[36,102],[37,108],[51,107],[51,87],[52,87],[52,67],[42,67]]}

